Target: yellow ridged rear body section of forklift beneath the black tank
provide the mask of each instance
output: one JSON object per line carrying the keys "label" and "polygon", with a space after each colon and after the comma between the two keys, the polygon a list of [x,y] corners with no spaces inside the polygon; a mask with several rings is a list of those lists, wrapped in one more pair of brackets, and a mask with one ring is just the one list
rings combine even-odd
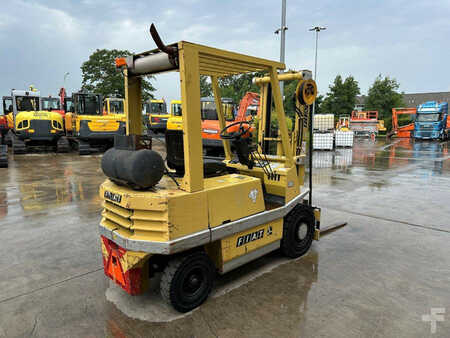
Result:
{"label": "yellow ridged rear body section of forklift beneath the black tank", "polygon": [[151,191],[134,191],[106,180],[100,198],[101,224],[130,239],[166,242],[208,228],[206,193],[179,190],[165,177]]}

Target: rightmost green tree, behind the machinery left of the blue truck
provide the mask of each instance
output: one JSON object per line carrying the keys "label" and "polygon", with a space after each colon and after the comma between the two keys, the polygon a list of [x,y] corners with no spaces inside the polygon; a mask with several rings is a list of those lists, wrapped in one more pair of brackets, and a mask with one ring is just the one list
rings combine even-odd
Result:
{"label": "rightmost green tree, behind the machinery left of the blue truck", "polygon": [[392,127],[392,108],[404,105],[403,95],[398,92],[399,87],[397,80],[389,76],[383,78],[380,74],[367,93],[365,109],[377,110],[387,129]]}

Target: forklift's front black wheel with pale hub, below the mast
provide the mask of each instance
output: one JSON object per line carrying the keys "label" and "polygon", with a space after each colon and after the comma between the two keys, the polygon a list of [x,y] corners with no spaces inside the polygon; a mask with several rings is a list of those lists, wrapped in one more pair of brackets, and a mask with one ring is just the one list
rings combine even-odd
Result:
{"label": "forklift's front black wheel with pale hub, below the mast", "polygon": [[307,206],[297,205],[284,217],[281,252],[290,258],[303,256],[311,247],[314,231],[312,211]]}

